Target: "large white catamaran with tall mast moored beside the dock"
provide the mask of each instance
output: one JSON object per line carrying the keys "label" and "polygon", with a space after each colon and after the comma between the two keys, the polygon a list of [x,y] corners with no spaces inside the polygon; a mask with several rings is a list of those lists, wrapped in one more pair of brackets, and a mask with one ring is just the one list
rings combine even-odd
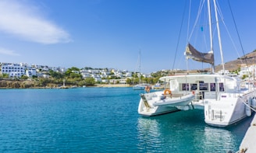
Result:
{"label": "large white catamaran with tall mast moored beside the dock", "polygon": [[[213,0],[216,27],[219,37],[219,47],[222,56],[222,43],[220,41],[217,6]],[[208,10],[211,2],[208,0]],[[152,92],[140,95],[138,113],[143,116],[154,116],[176,110],[204,110],[204,122],[215,127],[227,127],[233,123],[251,116],[251,103],[255,101],[256,92],[252,85],[241,88],[241,79],[227,75],[216,75],[214,68],[214,52],[212,45],[212,15],[208,11],[211,50],[201,53],[190,43],[187,44],[185,56],[187,59],[200,61],[212,65],[211,74],[172,75],[159,78],[169,83],[172,96],[180,95],[180,101],[167,101],[162,99],[164,92]],[[223,58],[222,58],[223,59]],[[224,64],[222,61],[222,68]],[[191,98],[193,95],[193,98]]]}

